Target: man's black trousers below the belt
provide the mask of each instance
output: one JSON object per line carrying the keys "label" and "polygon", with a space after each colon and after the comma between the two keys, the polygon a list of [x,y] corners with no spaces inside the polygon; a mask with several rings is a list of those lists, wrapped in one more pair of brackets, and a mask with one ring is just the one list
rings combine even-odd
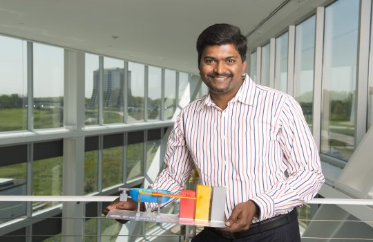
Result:
{"label": "man's black trousers below the belt", "polygon": [[287,223],[283,226],[276,227],[273,230],[267,230],[258,234],[252,234],[240,239],[227,239],[205,227],[197,234],[191,242],[300,242],[300,233],[298,220]]}

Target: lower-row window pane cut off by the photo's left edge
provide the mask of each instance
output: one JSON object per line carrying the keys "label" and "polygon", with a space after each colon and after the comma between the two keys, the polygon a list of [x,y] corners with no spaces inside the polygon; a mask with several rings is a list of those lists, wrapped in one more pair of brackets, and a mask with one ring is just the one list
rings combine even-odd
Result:
{"label": "lower-row window pane cut off by the photo's left edge", "polygon": [[[0,196],[26,195],[26,174],[26,162],[0,167]],[[26,203],[24,202],[1,202],[0,208],[0,224],[26,215]]]}

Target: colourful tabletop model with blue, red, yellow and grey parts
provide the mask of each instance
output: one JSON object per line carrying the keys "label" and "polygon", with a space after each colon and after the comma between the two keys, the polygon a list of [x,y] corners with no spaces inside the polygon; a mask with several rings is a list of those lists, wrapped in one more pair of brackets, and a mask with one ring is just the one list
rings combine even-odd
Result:
{"label": "colourful tabletop model with blue, red, yellow and grey parts", "polygon": [[[224,205],[226,199],[225,187],[197,185],[197,189],[183,189],[180,194],[171,194],[167,190],[122,188],[120,201],[127,201],[128,194],[137,201],[137,211],[111,210],[107,218],[153,221],[157,223],[179,223],[184,225],[201,225],[209,227],[225,227]],[[128,193],[128,194],[127,194]],[[170,198],[180,198],[179,214],[162,214],[161,205]],[[157,212],[140,212],[140,203],[157,203]]]}

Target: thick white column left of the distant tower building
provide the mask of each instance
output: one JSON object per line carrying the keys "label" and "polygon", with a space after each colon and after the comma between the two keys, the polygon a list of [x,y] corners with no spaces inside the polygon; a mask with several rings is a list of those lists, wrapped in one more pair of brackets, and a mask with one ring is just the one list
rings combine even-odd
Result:
{"label": "thick white column left of the distant tower building", "polygon": [[[64,127],[81,131],[85,116],[84,53],[65,50],[64,56]],[[84,195],[84,136],[64,139],[63,194]],[[64,203],[62,241],[83,241],[84,212],[84,203]]]}

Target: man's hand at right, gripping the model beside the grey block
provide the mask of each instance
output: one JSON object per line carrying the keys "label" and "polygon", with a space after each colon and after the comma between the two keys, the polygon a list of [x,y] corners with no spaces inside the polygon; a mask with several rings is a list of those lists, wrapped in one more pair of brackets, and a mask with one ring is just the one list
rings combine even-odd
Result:
{"label": "man's hand at right, gripping the model beside the grey block", "polygon": [[239,203],[233,208],[232,214],[225,222],[229,228],[222,229],[226,232],[239,232],[248,230],[254,216],[259,215],[259,208],[253,201]]}

